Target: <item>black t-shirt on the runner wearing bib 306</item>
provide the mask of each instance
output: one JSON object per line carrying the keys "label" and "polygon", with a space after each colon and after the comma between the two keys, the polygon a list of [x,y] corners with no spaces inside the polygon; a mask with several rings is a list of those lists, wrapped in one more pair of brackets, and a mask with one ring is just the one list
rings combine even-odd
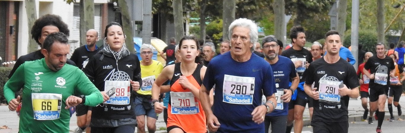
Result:
{"label": "black t-shirt on the runner wearing bib 306", "polygon": [[[369,87],[370,89],[386,88],[390,84],[390,71],[395,69],[394,61],[391,57],[385,56],[384,59],[379,59],[377,55],[374,55],[367,60],[364,64],[364,69],[370,70],[370,74],[374,74],[375,78],[370,79]],[[378,74],[376,74],[378,73]],[[378,75],[382,74],[386,78],[381,79],[386,81],[386,85],[378,84],[375,79],[378,79]]]}

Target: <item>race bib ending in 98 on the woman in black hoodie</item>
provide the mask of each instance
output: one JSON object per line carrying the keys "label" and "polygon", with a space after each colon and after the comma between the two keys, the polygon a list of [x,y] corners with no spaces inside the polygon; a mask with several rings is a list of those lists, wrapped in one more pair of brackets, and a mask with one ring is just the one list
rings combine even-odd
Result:
{"label": "race bib ending in 98 on the woman in black hoodie", "polygon": [[115,105],[127,105],[129,104],[131,96],[131,88],[129,81],[113,81],[106,80],[104,84],[104,91],[107,94],[114,93],[105,103]]}

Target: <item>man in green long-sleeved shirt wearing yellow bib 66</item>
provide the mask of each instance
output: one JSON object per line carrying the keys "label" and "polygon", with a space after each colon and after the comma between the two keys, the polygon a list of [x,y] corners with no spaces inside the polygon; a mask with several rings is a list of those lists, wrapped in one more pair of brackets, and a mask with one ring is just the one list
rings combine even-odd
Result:
{"label": "man in green long-sleeved shirt wearing yellow bib 66", "polygon": [[[26,61],[4,85],[4,97],[11,111],[24,101],[19,133],[68,133],[70,107],[96,106],[108,99],[79,68],[66,64],[67,43],[62,32],[49,34],[41,50],[45,58]],[[20,88],[22,97],[15,98]]]}

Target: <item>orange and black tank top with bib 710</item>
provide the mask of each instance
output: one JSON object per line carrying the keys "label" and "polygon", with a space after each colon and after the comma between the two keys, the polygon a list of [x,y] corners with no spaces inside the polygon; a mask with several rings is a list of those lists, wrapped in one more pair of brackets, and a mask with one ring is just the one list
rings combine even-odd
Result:
{"label": "orange and black tank top with bib 710", "polygon": [[[188,81],[197,89],[202,84],[200,70],[202,64],[198,64],[194,73],[186,76]],[[180,63],[175,64],[175,70],[171,79],[171,94],[167,108],[167,127],[178,126],[186,133],[206,133],[207,122],[200,101],[191,93],[190,89],[179,84],[181,76]]]}

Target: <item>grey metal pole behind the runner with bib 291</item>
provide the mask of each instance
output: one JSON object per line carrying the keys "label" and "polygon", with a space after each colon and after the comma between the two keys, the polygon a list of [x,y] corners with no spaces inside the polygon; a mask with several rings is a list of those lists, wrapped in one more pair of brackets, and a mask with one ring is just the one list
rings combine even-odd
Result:
{"label": "grey metal pole behind the runner with bib 291", "polygon": [[358,16],[359,16],[359,2],[358,0],[352,0],[352,36],[351,36],[351,46],[352,46],[352,54],[354,59],[356,59],[356,63],[354,63],[354,69],[357,72],[358,69]]}

